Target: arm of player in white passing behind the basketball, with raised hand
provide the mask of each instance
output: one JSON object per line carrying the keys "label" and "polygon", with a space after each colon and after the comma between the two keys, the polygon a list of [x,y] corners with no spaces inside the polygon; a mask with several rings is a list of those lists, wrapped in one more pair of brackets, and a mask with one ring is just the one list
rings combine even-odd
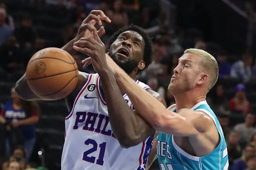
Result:
{"label": "arm of player in white passing behind the basketball, with raised hand", "polygon": [[[87,18],[82,22],[81,26],[79,27],[76,37],[70,42],[68,42],[64,47],[62,47],[62,49],[68,52],[69,54],[73,55],[76,52],[76,50],[73,49],[73,44],[82,37],[91,37],[91,32],[88,31],[88,27],[92,27],[97,22],[101,24],[101,20],[106,20],[107,22],[111,22],[110,19],[102,11],[92,10],[90,14],[87,16]],[[104,34],[104,32],[105,31],[103,27],[101,27],[100,30],[98,31],[98,35],[101,36]],[[84,78],[84,76],[81,73],[79,73],[78,82],[74,92],[77,89],[79,90],[79,88],[82,86],[85,80],[86,78]],[[55,99],[49,99],[49,98],[43,99],[36,96],[28,86],[26,73],[17,81],[15,85],[15,91],[24,100],[55,100]],[[71,100],[71,98],[73,99],[72,93],[66,97],[66,102]]]}

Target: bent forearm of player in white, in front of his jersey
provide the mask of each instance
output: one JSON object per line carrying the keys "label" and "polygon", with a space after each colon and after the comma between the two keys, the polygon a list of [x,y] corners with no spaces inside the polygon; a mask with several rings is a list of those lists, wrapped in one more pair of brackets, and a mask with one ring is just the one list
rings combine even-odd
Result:
{"label": "bent forearm of player in white, in front of his jersey", "polygon": [[151,127],[127,105],[111,71],[101,74],[100,78],[107,103],[109,122],[120,144],[130,147],[149,137],[147,127]]}

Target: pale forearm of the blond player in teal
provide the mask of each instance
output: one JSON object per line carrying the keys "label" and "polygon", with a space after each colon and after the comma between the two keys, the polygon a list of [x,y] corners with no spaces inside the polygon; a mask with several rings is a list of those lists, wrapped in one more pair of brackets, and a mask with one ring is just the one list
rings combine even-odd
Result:
{"label": "pale forearm of the blond player in teal", "polygon": [[140,88],[123,70],[115,75],[118,85],[125,90],[137,113],[157,130],[157,122],[166,112],[165,106]]}

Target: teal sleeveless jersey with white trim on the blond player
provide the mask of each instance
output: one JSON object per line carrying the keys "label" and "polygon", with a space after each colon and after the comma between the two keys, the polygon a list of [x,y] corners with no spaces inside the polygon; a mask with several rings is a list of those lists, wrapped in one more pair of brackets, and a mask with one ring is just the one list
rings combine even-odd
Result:
{"label": "teal sleeveless jersey with white trim on the blond player", "polygon": [[[183,151],[174,141],[173,135],[160,133],[157,136],[157,156],[161,170],[227,170],[228,153],[225,138],[220,123],[206,103],[206,101],[196,104],[193,110],[203,111],[209,115],[220,135],[219,145],[209,154],[196,157]],[[176,108],[173,109],[175,111]]]}

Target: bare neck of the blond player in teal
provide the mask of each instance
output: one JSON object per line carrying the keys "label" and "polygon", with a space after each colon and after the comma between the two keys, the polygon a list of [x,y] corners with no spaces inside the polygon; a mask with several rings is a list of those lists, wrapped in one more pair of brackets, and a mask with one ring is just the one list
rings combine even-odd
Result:
{"label": "bare neck of the blond player in teal", "polygon": [[205,95],[198,95],[193,93],[192,91],[180,93],[174,96],[175,103],[176,103],[176,112],[181,109],[188,108],[191,109],[197,103],[202,102],[205,100]]}

